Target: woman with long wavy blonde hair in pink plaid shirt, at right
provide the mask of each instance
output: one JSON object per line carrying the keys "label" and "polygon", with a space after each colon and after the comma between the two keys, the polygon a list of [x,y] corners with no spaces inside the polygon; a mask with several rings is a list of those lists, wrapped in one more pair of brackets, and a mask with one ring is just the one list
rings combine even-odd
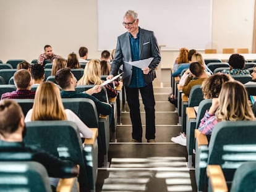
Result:
{"label": "woman with long wavy blonde hair in pink plaid shirt, at right", "polygon": [[211,135],[216,123],[228,120],[255,120],[247,91],[239,81],[223,83],[220,96],[213,98],[211,107],[205,112],[198,130],[205,135]]}

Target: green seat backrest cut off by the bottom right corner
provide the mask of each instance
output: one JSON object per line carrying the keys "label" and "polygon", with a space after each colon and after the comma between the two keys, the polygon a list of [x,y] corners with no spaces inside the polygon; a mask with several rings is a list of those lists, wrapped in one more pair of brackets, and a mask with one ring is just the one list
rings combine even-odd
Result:
{"label": "green seat backrest cut off by the bottom right corner", "polygon": [[237,168],[231,192],[256,191],[256,162],[245,162]]}

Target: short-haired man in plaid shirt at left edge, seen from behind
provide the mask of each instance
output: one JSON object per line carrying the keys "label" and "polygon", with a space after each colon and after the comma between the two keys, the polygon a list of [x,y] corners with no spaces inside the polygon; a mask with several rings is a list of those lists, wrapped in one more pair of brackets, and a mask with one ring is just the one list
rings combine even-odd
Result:
{"label": "short-haired man in plaid shirt at left edge, seen from behind", "polygon": [[1,99],[34,99],[35,91],[31,91],[32,80],[27,69],[20,69],[14,73],[16,91],[4,93]]}

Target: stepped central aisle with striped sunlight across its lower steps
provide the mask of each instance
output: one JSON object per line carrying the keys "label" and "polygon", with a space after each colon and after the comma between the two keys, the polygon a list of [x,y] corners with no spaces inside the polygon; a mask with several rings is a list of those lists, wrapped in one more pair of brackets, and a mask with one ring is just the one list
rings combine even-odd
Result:
{"label": "stepped central aisle with striped sunlight across its lower steps", "polygon": [[194,170],[187,168],[186,147],[171,143],[181,131],[177,112],[167,101],[171,88],[154,88],[156,143],[145,143],[145,112],[141,102],[143,143],[130,143],[127,104],[117,125],[116,143],[110,143],[109,168],[98,170],[96,191],[196,191]]}

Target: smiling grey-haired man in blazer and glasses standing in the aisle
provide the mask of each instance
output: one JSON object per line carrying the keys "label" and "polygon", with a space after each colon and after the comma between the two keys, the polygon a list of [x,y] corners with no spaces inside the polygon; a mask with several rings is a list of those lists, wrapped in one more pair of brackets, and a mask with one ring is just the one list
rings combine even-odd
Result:
{"label": "smiling grey-haired man in blazer and glasses standing in the aisle", "polygon": [[[155,98],[152,81],[156,77],[155,68],[161,61],[158,43],[153,31],[139,27],[138,15],[134,10],[127,10],[122,25],[127,32],[117,38],[116,53],[108,79],[113,78],[119,67],[123,66],[122,80],[126,88],[126,98],[132,120],[132,142],[142,142],[140,90],[146,114],[145,136],[148,143],[155,143]],[[150,57],[153,57],[153,61],[144,69],[127,64],[129,61],[139,61]]]}

